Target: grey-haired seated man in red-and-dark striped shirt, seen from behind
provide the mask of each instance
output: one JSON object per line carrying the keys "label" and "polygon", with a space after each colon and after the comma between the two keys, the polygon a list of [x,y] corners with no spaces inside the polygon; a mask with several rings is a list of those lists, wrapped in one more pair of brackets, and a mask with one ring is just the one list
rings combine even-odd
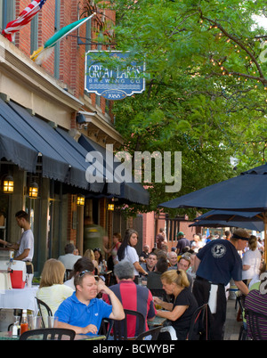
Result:
{"label": "grey-haired seated man in red-and-dark striped shirt, seen from behind", "polygon": [[[145,317],[145,330],[149,330],[147,321],[152,321],[156,315],[153,297],[149,289],[134,283],[134,265],[129,261],[120,261],[114,267],[114,274],[117,285],[110,286],[109,289],[116,294],[125,309],[142,313]],[[109,294],[108,294],[109,295]],[[110,296],[103,295],[106,302],[110,302]],[[136,337],[136,319],[128,316],[127,337]]]}

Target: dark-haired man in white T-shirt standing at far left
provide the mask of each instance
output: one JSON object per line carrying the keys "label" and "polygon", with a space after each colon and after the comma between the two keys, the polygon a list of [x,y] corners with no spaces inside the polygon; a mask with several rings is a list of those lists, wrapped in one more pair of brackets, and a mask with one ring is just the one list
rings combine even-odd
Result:
{"label": "dark-haired man in white T-shirt standing at far left", "polygon": [[34,255],[34,236],[30,229],[28,214],[24,210],[20,210],[15,215],[17,224],[23,229],[20,240],[14,244],[0,240],[0,243],[6,245],[8,248],[17,250],[15,260],[24,261],[26,264],[26,272],[34,273],[32,259]]}

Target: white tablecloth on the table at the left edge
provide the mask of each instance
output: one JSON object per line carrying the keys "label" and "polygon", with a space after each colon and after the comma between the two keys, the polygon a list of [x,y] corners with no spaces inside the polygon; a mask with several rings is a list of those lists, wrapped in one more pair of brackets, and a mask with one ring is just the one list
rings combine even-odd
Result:
{"label": "white tablecloth on the table at the left edge", "polygon": [[38,286],[25,289],[5,289],[0,294],[0,309],[31,310],[37,313],[36,290]]}

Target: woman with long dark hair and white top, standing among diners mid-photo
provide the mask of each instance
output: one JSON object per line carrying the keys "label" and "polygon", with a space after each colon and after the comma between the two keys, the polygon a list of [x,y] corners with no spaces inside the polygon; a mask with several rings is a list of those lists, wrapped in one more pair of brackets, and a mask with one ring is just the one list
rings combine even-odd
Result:
{"label": "woman with long dark hair and white top, standing among diners mid-photo", "polygon": [[137,245],[138,233],[134,229],[128,229],[125,232],[125,238],[117,249],[117,261],[127,260],[134,264],[134,282],[138,282],[139,274],[147,275],[148,273],[139,264],[139,256],[134,248]]}

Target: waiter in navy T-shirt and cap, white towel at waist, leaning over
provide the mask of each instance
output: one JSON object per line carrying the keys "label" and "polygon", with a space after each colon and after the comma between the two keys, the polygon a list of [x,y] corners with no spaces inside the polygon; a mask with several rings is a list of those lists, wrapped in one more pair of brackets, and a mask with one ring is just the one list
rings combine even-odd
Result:
{"label": "waiter in navy T-shirt and cap, white towel at waist, leaning over", "polygon": [[223,339],[226,320],[225,286],[231,278],[244,295],[248,294],[247,286],[242,281],[242,260],[238,251],[246,248],[249,237],[246,230],[238,229],[231,240],[212,240],[196,256],[198,269],[193,294],[199,306],[208,303],[213,313],[209,332],[211,339]]}

